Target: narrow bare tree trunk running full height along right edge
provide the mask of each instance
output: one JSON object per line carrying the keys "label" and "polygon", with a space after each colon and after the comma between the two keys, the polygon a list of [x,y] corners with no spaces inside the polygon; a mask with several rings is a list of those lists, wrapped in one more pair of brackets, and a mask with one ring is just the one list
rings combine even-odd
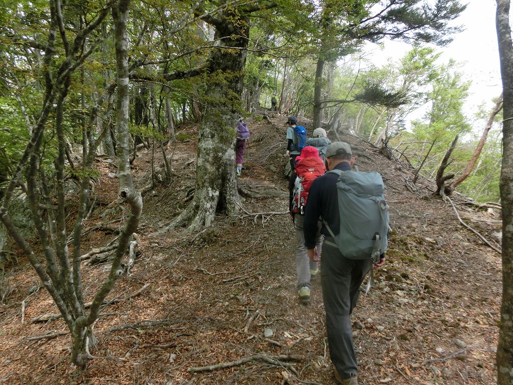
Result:
{"label": "narrow bare tree trunk running full height along right edge", "polygon": [[502,304],[497,347],[497,383],[513,385],[513,44],[510,0],[497,0],[497,40],[502,75]]}

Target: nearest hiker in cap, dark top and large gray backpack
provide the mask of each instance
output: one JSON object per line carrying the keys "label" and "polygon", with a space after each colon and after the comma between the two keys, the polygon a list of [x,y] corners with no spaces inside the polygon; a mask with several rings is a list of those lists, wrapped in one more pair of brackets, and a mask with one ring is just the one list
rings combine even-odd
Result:
{"label": "nearest hiker in cap, dark top and large gray backpack", "polygon": [[326,163],[329,171],[310,186],[303,223],[305,247],[310,260],[320,260],[315,238],[321,219],[320,275],[334,376],[343,385],[358,385],[350,316],[365,276],[385,263],[388,206],[378,172],[351,171],[354,158],[347,143],[331,143]]}

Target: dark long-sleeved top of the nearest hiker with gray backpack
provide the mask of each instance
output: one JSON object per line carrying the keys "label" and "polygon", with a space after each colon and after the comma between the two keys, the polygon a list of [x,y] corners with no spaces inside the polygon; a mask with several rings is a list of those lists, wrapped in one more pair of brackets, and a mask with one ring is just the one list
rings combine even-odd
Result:
{"label": "dark long-sleeved top of the nearest hiker with gray backpack", "polygon": [[[351,165],[343,161],[337,164],[334,169],[349,171]],[[328,222],[334,235],[340,232],[339,199],[337,191],[337,174],[325,174],[315,179],[308,192],[308,204],[306,205],[305,223],[303,232],[305,235],[306,248],[315,247],[315,235],[317,234],[317,223],[319,218]],[[326,226],[322,226],[321,233],[330,236]]]}

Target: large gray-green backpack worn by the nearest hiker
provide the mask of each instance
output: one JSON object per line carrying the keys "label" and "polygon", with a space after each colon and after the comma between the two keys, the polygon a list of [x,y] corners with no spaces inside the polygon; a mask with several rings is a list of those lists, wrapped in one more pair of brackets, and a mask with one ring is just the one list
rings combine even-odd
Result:
{"label": "large gray-green backpack worn by the nearest hiker", "polygon": [[340,232],[334,235],[340,252],[349,259],[379,262],[388,246],[388,205],[383,198],[385,186],[379,172],[328,171],[339,175],[337,181]]}

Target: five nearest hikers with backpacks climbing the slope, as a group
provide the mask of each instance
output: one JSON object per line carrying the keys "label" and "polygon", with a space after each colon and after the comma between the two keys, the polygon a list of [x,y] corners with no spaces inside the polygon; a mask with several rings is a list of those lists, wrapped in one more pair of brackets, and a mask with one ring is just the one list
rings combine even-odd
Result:
{"label": "five nearest hikers with backpacks climbing the slope, as a group", "polygon": [[[309,303],[311,281],[319,275],[334,376],[343,385],[358,385],[350,316],[365,276],[370,274],[368,291],[373,270],[385,263],[389,214],[383,179],[376,171],[353,171],[351,146],[331,143],[324,128],[315,128],[309,138],[296,117],[288,117],[286,125],[299,300]],[[238,176],[248,138],[248,127],[240,118],[235,145]]]}

